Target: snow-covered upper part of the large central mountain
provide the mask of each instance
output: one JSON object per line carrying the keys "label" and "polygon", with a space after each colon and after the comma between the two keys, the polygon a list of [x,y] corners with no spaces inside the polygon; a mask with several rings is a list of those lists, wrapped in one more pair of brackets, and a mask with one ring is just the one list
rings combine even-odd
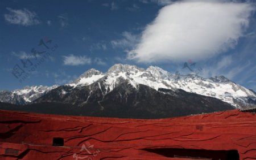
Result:
{"label": "snow-covered upper part of the large central mountain", "polygon": [[256,106],[256,94],[252,90],[246,89],[224,76],[205,79],[195,74],[172,74],[154,66],[150,66],[144,70],[137,66],[115,64],[106,73],[91,69],[82,74],[73,83],[67,84],[67,86],[74,88],[83,87],[104,79],[103,85],[107,89],[102,94],[105,95],[118,86],[120,77],[129,81],[137,89],[138,84],[146,85],[155,90],[159,90],[159,88],[171,90],[183,89],[186,92],[218,98],[238,109]]}

